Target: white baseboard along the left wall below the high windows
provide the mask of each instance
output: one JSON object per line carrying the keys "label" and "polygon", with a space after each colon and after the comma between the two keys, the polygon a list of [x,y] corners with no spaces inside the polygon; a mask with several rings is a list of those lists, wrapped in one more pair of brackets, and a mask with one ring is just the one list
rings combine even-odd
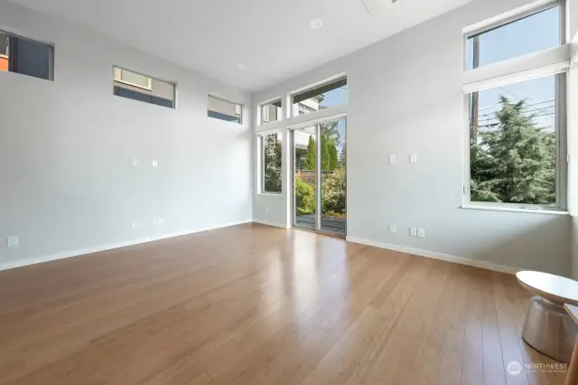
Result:
{"label": "white baseboard along the left wall below the high windows", "polygon": [[117,243],[109,243],[107,245],[101,245],[101,246],[97,246],[95,248],[76,249],[76,250],[63,251],[61,253],[41,256],[41,257],[37,257],[37,258],[25,258],[22,260],[15,260],[14,262],[6,262],[4,264],[0,264],[0,271],[8,270],[11,268],[22,268],[24,266],[35,265],[37,263],[43,263],[43,262],[50,262],[52,260],[57,260],[57,259],[80,257],[80,256],[92,254],[92,253],[97,253],[99,251],[126,248],[127,246],[139,245],[141,243],[154,242],[155,240],[181,237],[183,235],[194,234],[195,232],[216,230],[216,229],[221,229],[221,228],[225,228],[225,227],[229,227],[229,226],[237,226],[239,224],[250,223],[250,222],[251,222],[251,220],[237,221],[237,222],[225,223],[225,224],[219,225],[219,226],[212,226],[212,227],[208,227],[208,228],[177,231],[177,232],[172,232],[172,233],[167,233],[167,234],[155,235],[153,237],[126,240],[126,241],[117,242]]}

